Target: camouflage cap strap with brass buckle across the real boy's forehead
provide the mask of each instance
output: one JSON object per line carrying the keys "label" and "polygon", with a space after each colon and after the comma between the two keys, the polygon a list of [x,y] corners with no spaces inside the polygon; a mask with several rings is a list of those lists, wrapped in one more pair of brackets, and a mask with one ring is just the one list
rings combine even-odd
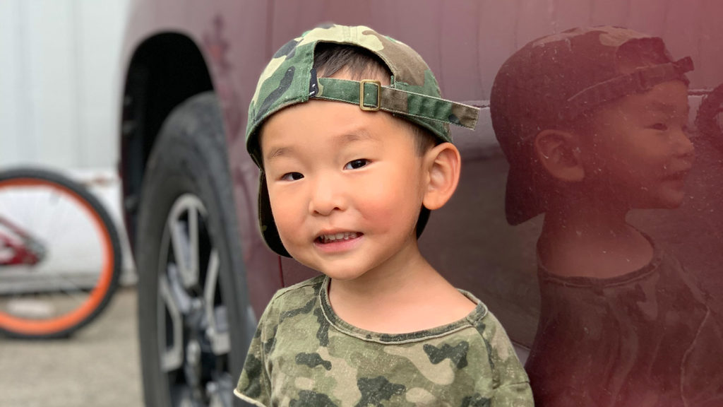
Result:
{"label": "camouflage cap strap with brass buckle across the real boy's forehead", "polygon": [[479,108],[421,93],[382,86],[376,80],[346,80],[320,77],[314,97],[358,104],[363,110],[421,117],[474,129]]}

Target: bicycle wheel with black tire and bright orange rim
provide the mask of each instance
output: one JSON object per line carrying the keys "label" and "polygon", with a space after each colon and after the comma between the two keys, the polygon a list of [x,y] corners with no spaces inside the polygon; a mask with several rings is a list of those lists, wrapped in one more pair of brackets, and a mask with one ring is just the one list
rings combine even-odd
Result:
{"label": "bicycle wheel with black tire and bright orange rim", "polygon": [[0,332],[66,337],[118,287],[118,232],[98,199],[40,169],[0,172]]}

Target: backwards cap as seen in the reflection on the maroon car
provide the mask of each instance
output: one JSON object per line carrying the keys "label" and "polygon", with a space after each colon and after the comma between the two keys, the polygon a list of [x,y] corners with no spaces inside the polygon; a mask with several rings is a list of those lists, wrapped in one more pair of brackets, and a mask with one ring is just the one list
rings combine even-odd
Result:
{"label": "backwards cap as seen in the reflection on the maroon car", "polygon": [[690,57],[674,61],[662,38],[609,26],[547,35],[510,56],[489,96],[492,127],[510,163],[508,223],[518,225],[545,211],[532,148],[540,131],[659,83],[688,84],[684,74],[690,70]]}

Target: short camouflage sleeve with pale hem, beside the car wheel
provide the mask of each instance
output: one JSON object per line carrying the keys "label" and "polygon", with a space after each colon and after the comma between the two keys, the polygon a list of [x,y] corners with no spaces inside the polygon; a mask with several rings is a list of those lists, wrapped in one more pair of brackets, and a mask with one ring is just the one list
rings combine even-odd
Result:
{"label": "short camouflage sleeve with pale hem, beside the car wheel", "polygon": [[276,325],[270,317],[273,314],[271,309],[274,299],[272,298],[259,320],[256,333],[249,345],[244,369],[241,370],[239,383],[234,390],[234,395],[254,406],[271,406],[271,382],[266,366],[267,347],[265,344],[268,343],[267,338],[270,336],[268,335],[269,328]]}

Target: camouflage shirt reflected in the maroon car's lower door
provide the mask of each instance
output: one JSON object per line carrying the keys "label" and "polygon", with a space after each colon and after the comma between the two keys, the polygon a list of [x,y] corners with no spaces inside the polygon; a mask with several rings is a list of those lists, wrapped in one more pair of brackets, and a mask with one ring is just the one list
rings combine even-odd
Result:
{"label": "camouflage shirt reflected in the maroon car's lower door", "polygon": [[656,248],[636,272],[560,277],[541,267],[526,369],[537,406],[723,406],[723,325],[692,277]]}

